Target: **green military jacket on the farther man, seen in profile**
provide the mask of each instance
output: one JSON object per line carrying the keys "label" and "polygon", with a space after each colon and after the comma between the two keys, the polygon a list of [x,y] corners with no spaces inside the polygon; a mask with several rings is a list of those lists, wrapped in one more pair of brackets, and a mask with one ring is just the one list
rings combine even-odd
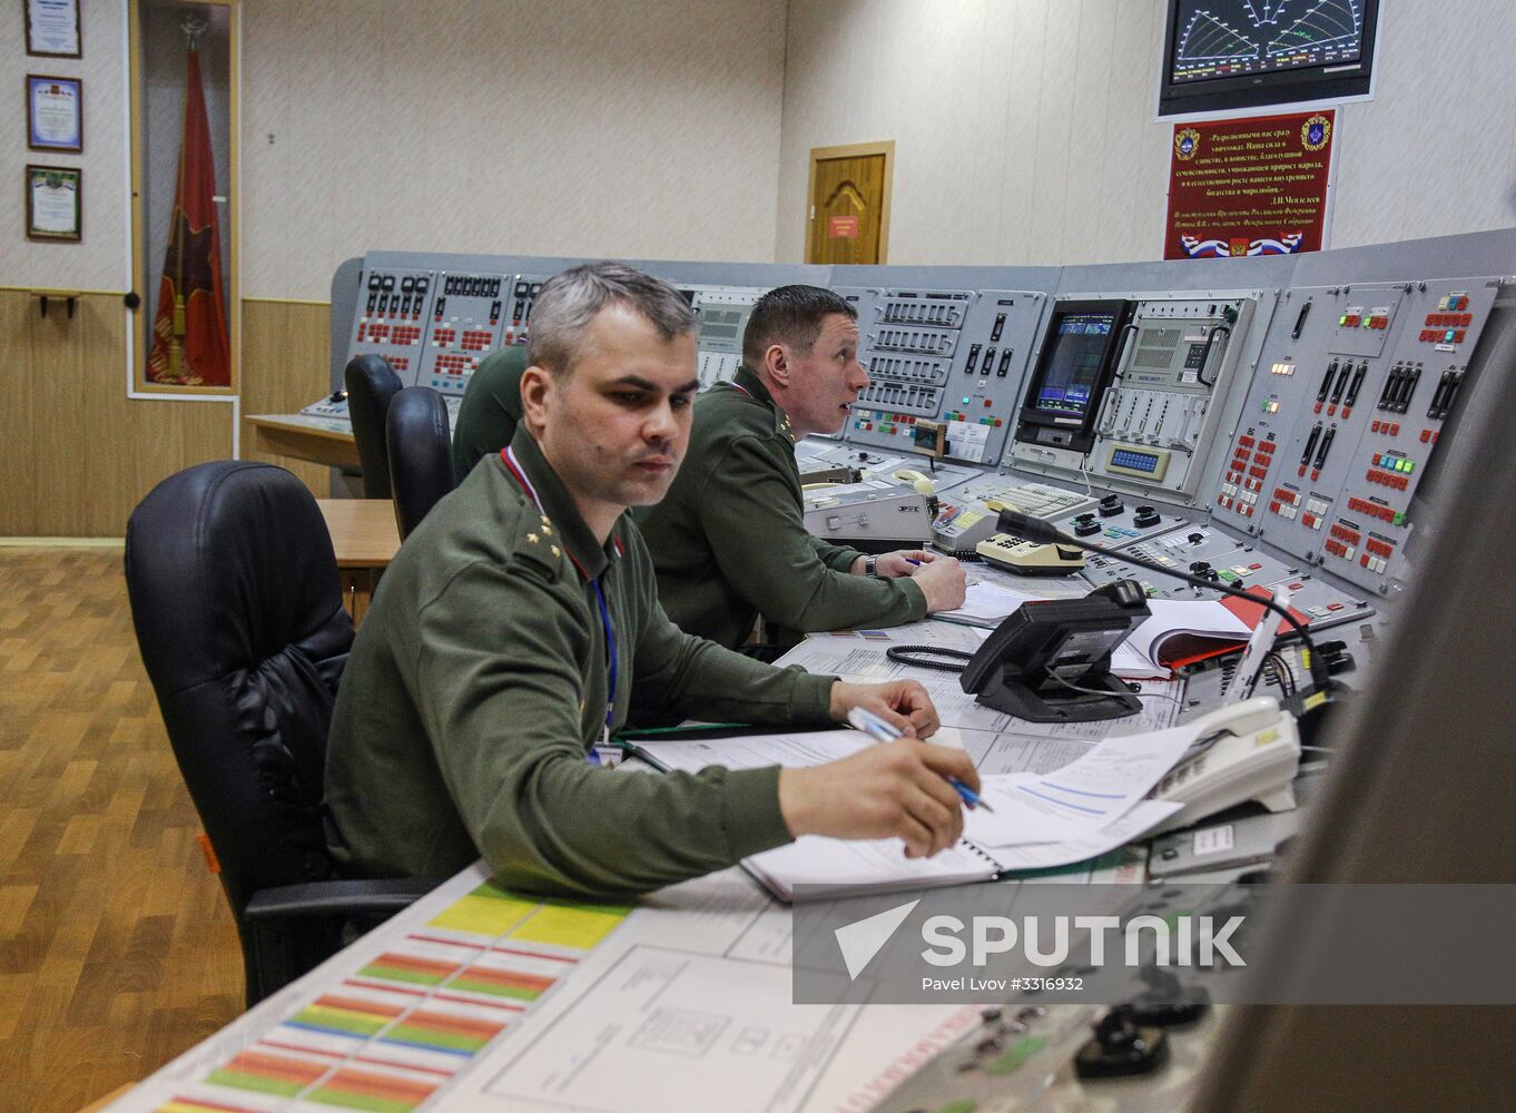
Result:
{"label": "green military jacket on the farther man, seen in profile", "polygon": [[634,514],[669,617],[723,646],[740,646],[758,614],[793,631],[926,614],[910,578],[849,575],[861,553],[807,532],[790,419],[746,367],[696,399],[690,450],[667,497]]}

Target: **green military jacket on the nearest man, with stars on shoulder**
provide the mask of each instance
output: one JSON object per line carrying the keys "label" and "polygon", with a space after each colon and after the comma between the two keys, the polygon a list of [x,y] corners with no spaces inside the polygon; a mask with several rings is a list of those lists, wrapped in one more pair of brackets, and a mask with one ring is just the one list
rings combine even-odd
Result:
{"label": "green military jacket on the nearest man, with stars on shoulder", "polygon": [[332,854],[370,876],[482,855],[515,889],[622,896],[788,842],[776,767],[619,773],[587,754],[608,702],[612,729],[638,708],[820,723],[834,678],[679,632],[629,519],[599,546],[525,425],[511,453],[426,516],[364,617],[327,748]]}

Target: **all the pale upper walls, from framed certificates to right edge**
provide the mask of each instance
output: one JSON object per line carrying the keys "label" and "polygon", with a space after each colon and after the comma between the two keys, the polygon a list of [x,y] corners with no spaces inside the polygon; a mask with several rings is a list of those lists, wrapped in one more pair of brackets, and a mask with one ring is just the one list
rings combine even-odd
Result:
{"label": "all the pale upper walls, from framed certificates to right edge", "polygon": [[[124,6],[83,3],[64,61],[26,58],[0,3],[0,88],[85,79],[85,155],[29,153],[20,96],[0,129],[0,285],[127,285]],[[891,262],[1154,258],[1163,11],[247,0],[243,293],[324,300],[370,249],[799,259],[810,149],[888,138]],[[1331,243],[1516,224],[1516,6],[1384,0],[1383,29],[1378,96],[1340,115]],[[83,167],[82,244],[24,238],[27,161]]]}

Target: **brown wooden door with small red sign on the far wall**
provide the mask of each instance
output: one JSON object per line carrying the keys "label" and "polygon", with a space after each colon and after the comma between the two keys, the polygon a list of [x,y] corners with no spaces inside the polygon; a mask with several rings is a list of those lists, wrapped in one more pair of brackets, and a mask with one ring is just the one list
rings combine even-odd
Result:
{"label": "brown wooden door with small red sign on the far wall", "polygon": [[811,150],[805,261],[885,262],[894,143]]}

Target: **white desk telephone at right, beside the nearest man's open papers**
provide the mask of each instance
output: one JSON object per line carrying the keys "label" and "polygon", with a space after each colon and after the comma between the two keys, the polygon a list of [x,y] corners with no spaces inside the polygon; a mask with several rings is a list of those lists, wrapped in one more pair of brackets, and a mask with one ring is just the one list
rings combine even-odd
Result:
{"label": "white desk telephone at right, beside the nearest man's open papers", "polygon": [[1243,801],[1269,811],[1295,807],[1301,734],[1276,699],[1254,696],[1189,725],[1198,740],[1213,740],[1181,758],[1152,790],[1154,799],[1184,805],[1154,832],[1189,826]]}

